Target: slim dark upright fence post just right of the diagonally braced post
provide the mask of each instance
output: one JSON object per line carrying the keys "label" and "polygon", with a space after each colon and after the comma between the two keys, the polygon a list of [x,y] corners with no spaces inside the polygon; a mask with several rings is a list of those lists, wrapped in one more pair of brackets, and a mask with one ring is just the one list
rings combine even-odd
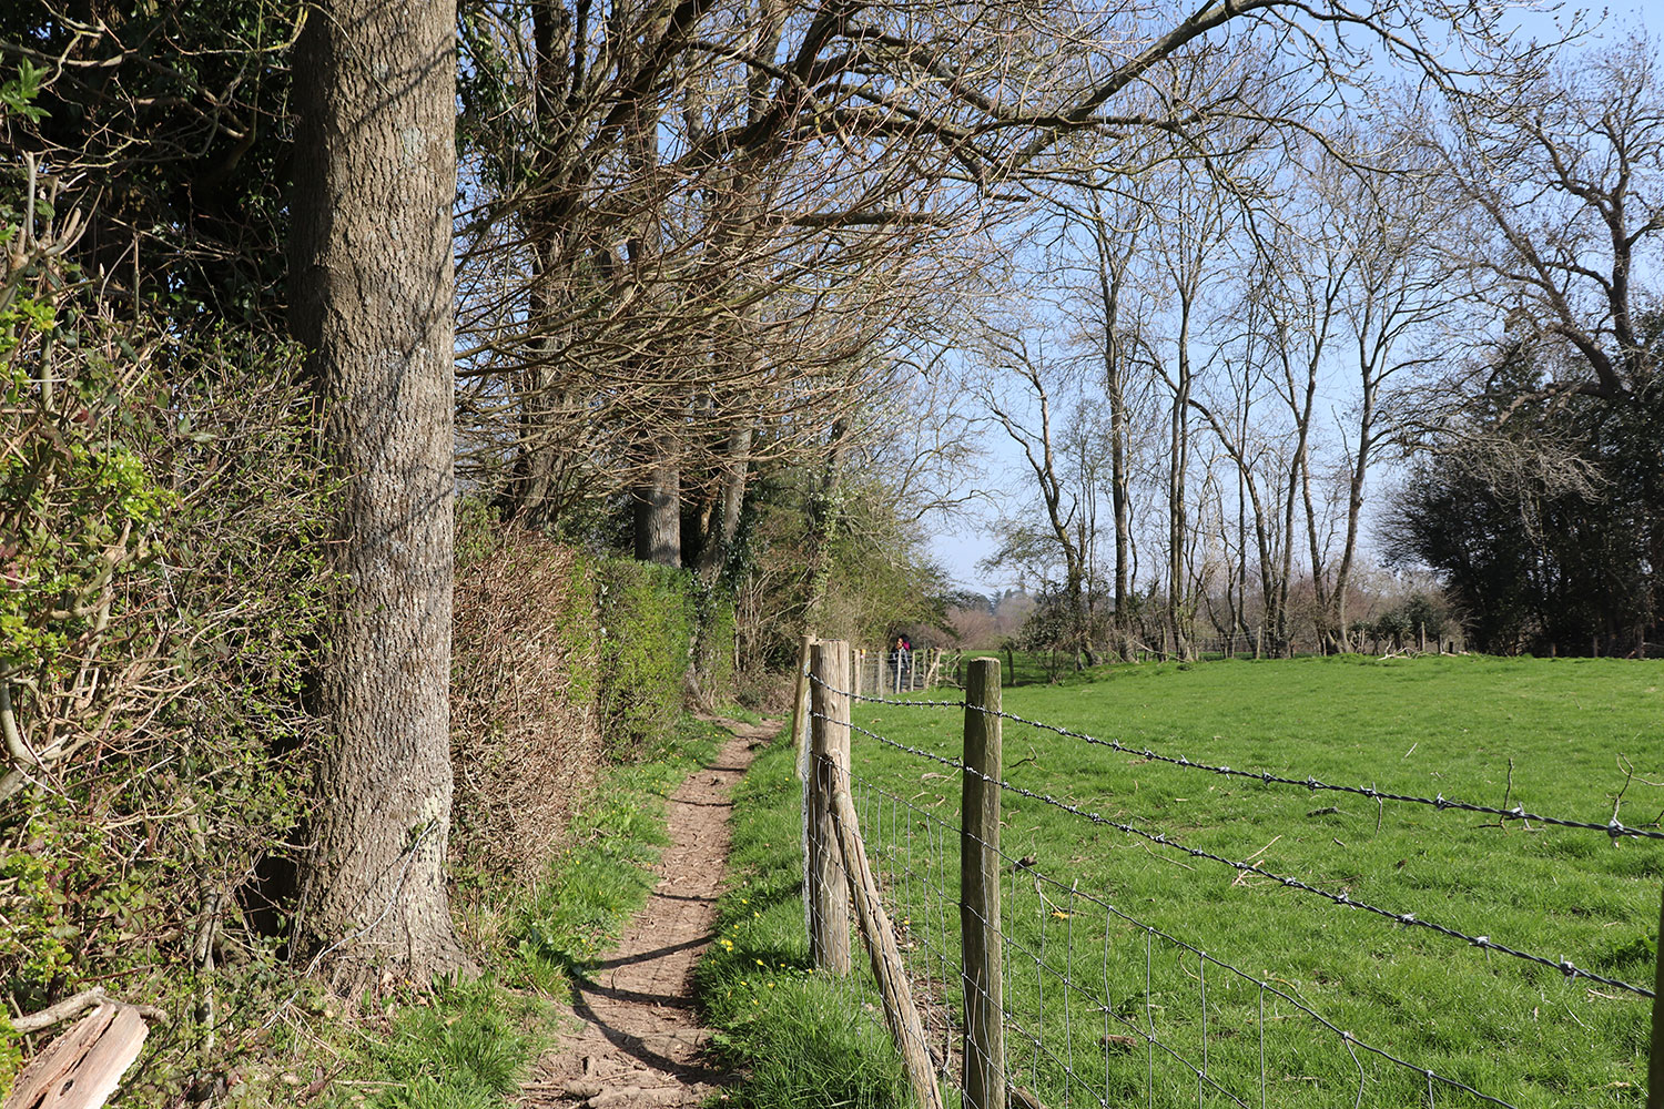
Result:
{"label": "slim dark upright fence post just right of the diagonally braced post", "polygon": [[965,953],[965,1109],[1005,1109],[1000,978],[1000,660],[965,677],[965,783],[958,840],[958,926]]}

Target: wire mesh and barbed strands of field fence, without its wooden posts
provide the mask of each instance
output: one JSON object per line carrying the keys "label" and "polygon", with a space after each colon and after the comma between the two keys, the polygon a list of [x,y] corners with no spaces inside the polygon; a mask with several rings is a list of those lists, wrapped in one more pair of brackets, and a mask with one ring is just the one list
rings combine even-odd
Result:
{"label": "wire mesh and barbed strands of field fence, without its wooden posts", "polygon": [[[987,660],[977,665],[987,665]],[[980,700],[973,695],[965,700],[897,700],[857,693],[844,685],[832,688],[827,687],[825,675],[817,673],[810,675],[810,685],[842,697],[845,707],[850,700],[887,702],[922,712],[982,717],[995,727],[1012,720],[1047,728],[1060,738],[1128,750],[1115,742],[1003,712],[987,695]],[[967,700],[975,702],[968,710]],[[1474,1064],[1463,1061],[1459,1052],[1448,1051],[1428,1051],[1431,1057],[1416,1057],[1414,1051],[1399,1046],[1391,1034],[1383,1036],[1378,1023],[1371,1023],[1368,1033],[1354,1034],[1348,1028],[1359,1006],[1399,1014],[1404,1021],[1471,1019],[1481,1029],[1488,1021],[1498,1019],[1494,1014],[1464,1018],[1456,1011],[1456,998],[1428,996],[1428,983],[1434,983],[1436,989],[1436,976],[1423,978],[1414,986],[1423,991],[1421,996],[1394,996],[1393,984],[1383,976],[1363,986],[1364,998],[1336,1006],[1333,991],[1316,991],[1310,984],[1263,969],[1266,959],[1261,951],[1250,949],[1245,954],[1210,949],[1196,929],[1175,924],[1170,916],[1150,916],[1110,888],[1093,886],[1055,865],[1040,865],[1033,853],[1007,850],[998,843],[997,833],[978,836],[962,805],[965,786],[977,781],[997,796],[1025,805],[1040,803],[1083,825],[1140,838],[1146,850],[1158,851],[1186,870],[1220,868],[1231,878],[1231,886],[1248,878],[1266,880],[1295,895],[1315,898],[1333,911],[1356,909],[1379,918],[1383,928],[1426,934],[1426,944],[1481,949],[1488,959],[1498,958],[1498,968],[1514,961],[1528,971],[1553,971],[1564,983],[1606,991],[1601,996],[1614,1001],[1627,998],[1634,1013],[1634,1042],[1641,1054],[1646,1052],[1646,999],[1656,994],[1646,981],[1601,974],[1561,953],[1529,951],[1436,919],[1423,919],[1409,909],[1354,900],[1345,888],[1328,890],[1280,875],[1253,858],[1231,860],[1218,851],[1185,845],[1171,835],[1030,790],[1010,780],[997,763],[968,765],[968,757],[894,740],[882,730],[854,723],[847,708],[810,712],[807,717],[824,735],[842,733],[845,745],[852,737],[882,745],[905,755],[912,765],[905,776],[882,775],[860,763],[850,765],[844,755],[837,785],[849,791],[859,820],[860,850],[870,865],[887,928],[912,986],[919,1014],[914,1033],[917,1047],[952,1091],[950,1104],[962,1101],[973,1109],[1007,1104],[1150,1109],[1188,1104],[1196,1104],[1198,1109],[1213,1104],[1496,1104],[1521,1109],[1529,1104],[1567,1104],[1498,1092],[1493,1081],[1498,1066],[1529,1069],[1538,1061],[1504,1057]],[[1238,773],[1221,763],[1193,763],[1185,758],[1155,762],[1216,776]],[[1353,790],[1328,786],[1315,778],[1301,781],[1291,775],[1243,776],[1263,788]],[[1617,821],[1616,813],[1607,823],[1594,823],[1551,813],[1524,813],[1513,806],[1384,793],[1373,786],[1356,786],[1354,791],[1381,806],[1393,803],[1479,811],[1499,820],[1533,820],[1614,840],[1659,838],[1656,828],[1626,826]],[[997,811],[992,828],[998,828]],[[968,909],[978,900],[965,888],[970,881],[967,875],[973,870],[967,866],[967,851],[992,860],[990,873],[997,875],[997,896],[987,916]],[[849,896],[844,890],[829,893]],[[1256,909],[1208,903],[1198,904],[1195,911],[1220,914]],[[982,938],[973,936],[978,931]],[[997,994],[998,1028],[992,1038],[967,1034],[967,1013],[975,1011],[978,999],[987,999],[975,996],[967,984],[972,981],[967,966],[973,943],[992,943],[997,951],[998,989],[990,993]],[[1438,951],[1431,951],[1429,958],[1436,963]],[[1496,969],[1496,974],[1503,973]],[[1311,996],[1313,993],[1323,996]],[[1463,991],[1464,999],[1466,996]],[[967,1006],[967,1001],[972,1004]],[[1549,1001],[1548,993],[1544,1001]],[[879,1019],[877,1013],[874,1016]],[[1576,1013],[1571,1016],[1577,1019]],[[970,1023],[975,1019],[970,1018]],[[1438,1036],[1428,1034],[1411,1039],[1413,1046],[1439,1042]],[[977,1089],[975,1072],[978,1064],[990,1062],[985,1057],[988,1052],[998,1056],[993,1061],[998,1064],[998,1089]],[[1602,1089],[1576,1104],[1639,1104],[1641,1097],[1636,1086],[1614,1084],[1614,1089]]]}

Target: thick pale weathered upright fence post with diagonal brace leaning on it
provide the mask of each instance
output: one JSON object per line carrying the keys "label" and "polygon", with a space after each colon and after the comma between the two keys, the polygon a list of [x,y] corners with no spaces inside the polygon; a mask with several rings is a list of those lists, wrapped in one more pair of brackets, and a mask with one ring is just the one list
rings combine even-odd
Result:
{"label": "thick pale weathered upright fence post with diagonal brace leaning on it", "polygon": [[849,891],[832,825],[837,771],[849,773],[849,643],[809,648],[809,954],[815,969],[849,974]]}

